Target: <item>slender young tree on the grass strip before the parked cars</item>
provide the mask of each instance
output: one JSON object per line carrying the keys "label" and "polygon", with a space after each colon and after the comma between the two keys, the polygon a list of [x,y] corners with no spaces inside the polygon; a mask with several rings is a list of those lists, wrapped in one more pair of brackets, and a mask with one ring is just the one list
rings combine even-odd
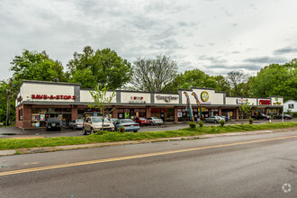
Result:
{"label": "slender young tree on the grass strip before the parked cars", "polygon": [[107,86],[104,86],[102,90],[100,90],[97,86],[94,87],[94,91],[90,91],[94,99],[94,103],[88,103],[90,108],[99,109],[102,116],[103,116],[103,124],[102,130],[104,125],[104,118],[106,115],[110,114],[113,111],[111,103],[115,98],[115,92],[113,91],[112,94],[108,94]]}

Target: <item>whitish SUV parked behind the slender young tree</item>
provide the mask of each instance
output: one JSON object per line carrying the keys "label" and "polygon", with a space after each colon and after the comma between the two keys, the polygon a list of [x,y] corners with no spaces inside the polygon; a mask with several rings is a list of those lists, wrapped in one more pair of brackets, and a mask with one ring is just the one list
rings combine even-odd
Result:
{"label": "whitish SUV parked behind the slender young tree", "polygon": [[108,121],[107,118],[104,118],[103,122],[103,117],[95,117],[95,116],[90,116],[85,118],[84,121],[84,135],[87,133],[94,133],[99,130],[114,130],[114,125],[111,121]]}

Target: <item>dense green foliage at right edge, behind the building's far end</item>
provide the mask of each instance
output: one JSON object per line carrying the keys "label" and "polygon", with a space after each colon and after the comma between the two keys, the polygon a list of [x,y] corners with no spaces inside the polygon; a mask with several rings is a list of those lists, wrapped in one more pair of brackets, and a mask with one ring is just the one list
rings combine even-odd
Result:
{"label": "dense green foliage at right edge, behind the building's far end", "polygon": [[297,59],[284,65],[271,64],[251,77],[251,96],[284,95],[284,101],[297,100]]}

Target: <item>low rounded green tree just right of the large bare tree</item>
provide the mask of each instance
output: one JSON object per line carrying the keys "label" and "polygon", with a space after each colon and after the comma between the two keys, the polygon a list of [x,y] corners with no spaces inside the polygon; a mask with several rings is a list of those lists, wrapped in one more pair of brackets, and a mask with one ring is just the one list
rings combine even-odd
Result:
{"label": "low rounded green tree just right of the large bare tree", "polygon": [[215,77],[209,76],[199,69],[193,69],[177,75],[175,80],[166,86],[166,89],[176,93],[177,89],[190,89],[192,87],[218,88],[218,83]]}

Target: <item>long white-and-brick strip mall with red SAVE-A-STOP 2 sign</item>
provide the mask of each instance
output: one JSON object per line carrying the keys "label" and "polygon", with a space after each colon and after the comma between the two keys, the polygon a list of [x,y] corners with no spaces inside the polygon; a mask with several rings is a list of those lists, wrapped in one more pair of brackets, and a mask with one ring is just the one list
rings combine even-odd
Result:
{"label": "long white-and-brick strip mall with red SAVE-A-STOP 2 sign", "polygon": [[[45,121],[58,117],[61,121],[71,121],[90,115],[100,115],[99,110],[88,107],[94,100],[91,89],[84,89],[80,84],[56,83],[46,81],[23,80],[15,102],[16,125],[20,128],[44,127]],[[238,120],[241,103],[253,104],[252,114],[263,112],[279,114],[284,105],[282,96],[268,98],[229,97],[223,92],[215,92],[210,88],[179,90],[178,94],[148,93],[116,90],[112,101],[113,118],[159,117],[164,121],[188,121],[186,97],[189,95],[195,120],[199,117],[198,105],[193,97],[199,96],[202,116],[225,115],[229,119]],[[108,94],[112,94],[108,92]]]}

